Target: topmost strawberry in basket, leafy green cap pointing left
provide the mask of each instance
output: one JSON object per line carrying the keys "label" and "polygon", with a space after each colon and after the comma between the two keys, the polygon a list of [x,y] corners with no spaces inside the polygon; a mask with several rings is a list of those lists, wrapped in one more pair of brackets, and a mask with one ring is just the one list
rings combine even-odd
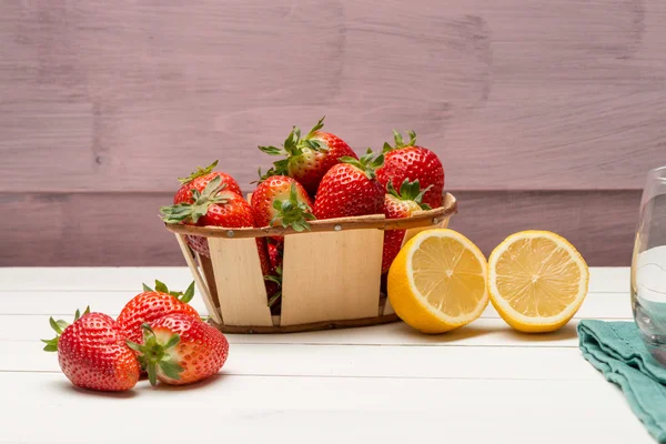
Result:
{"label": "topmost strawberry in basket, leafy green cap pointing left", "polygon": [[268,154],[286,157],[286,159],[274,162],[274,167],[269,170],[266,176],[289,175],[301,183],[311,195],[314,195],[326,171],[340,163],[341,158],[356,159],[356,153],[344,140],[335,134],[320,131],[323,127],[324,118],[303,139],[301,139],[301,130],[294,127],[284,141],[283,148],[259,147]]}

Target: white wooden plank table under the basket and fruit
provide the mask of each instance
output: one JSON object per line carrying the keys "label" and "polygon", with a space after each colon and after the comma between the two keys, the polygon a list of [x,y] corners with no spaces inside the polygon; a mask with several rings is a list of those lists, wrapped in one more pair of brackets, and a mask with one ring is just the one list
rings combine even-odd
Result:
{"label": "white wooden plank table under the basket and fruit", "polygon": [[515,333],[488,307],[440,336],[402,323],[228,335],[221,374],[190,387],[70,385],[41,350],[49,315],[88,303],[118,314],[154,278],[191,281],[184,268],[0,269],[0,442],[653,443],[577,349],[579,319],[630,320],[628,269],[593,269],[576,320],[555,334]]}

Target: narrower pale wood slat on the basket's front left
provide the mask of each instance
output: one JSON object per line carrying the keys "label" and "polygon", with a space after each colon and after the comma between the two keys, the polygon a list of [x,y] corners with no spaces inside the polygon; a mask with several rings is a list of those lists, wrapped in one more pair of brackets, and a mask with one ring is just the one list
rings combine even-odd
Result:
{"label": "narrower pale wood slat on the basket's front left", "polygon": [[209,239],[220,311],[228,325],[273,325],[254,239]]}

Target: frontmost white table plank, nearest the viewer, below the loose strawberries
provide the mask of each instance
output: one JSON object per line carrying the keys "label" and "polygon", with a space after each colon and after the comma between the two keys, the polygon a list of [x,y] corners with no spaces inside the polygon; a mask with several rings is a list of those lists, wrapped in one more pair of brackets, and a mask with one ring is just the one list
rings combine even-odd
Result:
{"label": "frontmost white table plank, nearest the viewer, below the loose strawberries", "polygon": [[[205,426],[147,428],[129,422],[109,427],[127,418],[131,397],[149,422],[168,417],[179,405],[195,411],[199,424],[223,424],[225,440],[238,442],[269,442],[278,434],[289,435],[292,443],[311,443],[317,436],[317,443],[329,444],[349,441],[353,431],[359,441],[397,444],[410,442],[418,431],[433,442],[444,434],[455,442],[511,436],[516,444],[556,444],[575,436],[581,442],[654,443],[622,392],[601,376],[485,381],[223,374],[182,390],[154,390],[143,381],[131,393],[113,395],[74,390],[58,373],[10,373],[0,379],[0,392],[14,400],[4,413],[2,436],[9,442],[85,443],[90,436],[103,443],[210,440]],[[201,408],[213,404],[220,405]],[[84,412],[103,414],[78,421]],[[39,427],[33,426],[37,416]],[[526,421],[517,426],[516,418]]]}

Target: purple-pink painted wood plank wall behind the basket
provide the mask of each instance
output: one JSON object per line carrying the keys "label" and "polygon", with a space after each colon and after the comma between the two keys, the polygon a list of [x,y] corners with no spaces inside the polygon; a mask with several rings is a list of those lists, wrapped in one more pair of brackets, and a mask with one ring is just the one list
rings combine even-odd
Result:
{"label": "purple-pink painted wood plank wall behind the basket", "polygon": [[484,252],[527,228],[627,265],[666,164],[659,0],[0,2],[0,265],[184,264],[158,219],[292,124],[414,129]]}

